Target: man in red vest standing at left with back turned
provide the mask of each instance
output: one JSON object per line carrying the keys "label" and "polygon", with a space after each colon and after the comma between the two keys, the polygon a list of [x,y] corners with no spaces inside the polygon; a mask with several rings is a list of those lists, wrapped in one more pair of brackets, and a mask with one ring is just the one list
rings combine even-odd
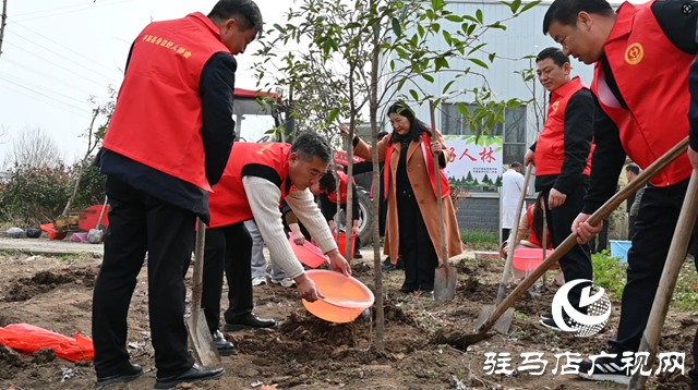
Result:
{"label": "man in red vest standing at left with back turned", "polygon": [[97,159],[111,209],[94,291],[98,386],[133,380],[127,316],[148,254],[148,306],[155,388],[219,378],[188,352],[182,278],[194,248],[196,217],[209,222],[208,192],[234,139],[234,54],[262,32],[252,0],[221,0],[206,16],[155,22],[139,34]]}

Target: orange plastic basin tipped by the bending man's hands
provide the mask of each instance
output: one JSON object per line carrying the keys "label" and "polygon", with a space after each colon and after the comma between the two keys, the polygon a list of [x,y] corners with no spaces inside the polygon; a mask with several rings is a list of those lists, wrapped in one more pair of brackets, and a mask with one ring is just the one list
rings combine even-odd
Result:
{"label": "orange plastic basin tipped by the bending man's hands", "polygon": [[317,318],[337,324],[351,322],[373,306],[373,292],[352,277],[324,269],[311,269],[305,273],[325,295],[324,300],[313,303],[303,300],[303,306]]}

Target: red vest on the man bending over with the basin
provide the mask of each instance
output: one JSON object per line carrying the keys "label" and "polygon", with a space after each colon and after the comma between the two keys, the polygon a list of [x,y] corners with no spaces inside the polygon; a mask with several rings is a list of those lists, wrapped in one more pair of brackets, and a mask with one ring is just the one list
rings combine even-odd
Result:
{"label": "red vest on the man bending over with the basin", "polygon": [[226,227],[244,222],[253,218],[248,193],[242,185],[242,169],[249,164],[267,166],[279,173],[281,178],[281,198],[286,198],[290,144],[280,143],[234,143],[230,159],[220,182],[210,194],[210,226],[209,228]]}

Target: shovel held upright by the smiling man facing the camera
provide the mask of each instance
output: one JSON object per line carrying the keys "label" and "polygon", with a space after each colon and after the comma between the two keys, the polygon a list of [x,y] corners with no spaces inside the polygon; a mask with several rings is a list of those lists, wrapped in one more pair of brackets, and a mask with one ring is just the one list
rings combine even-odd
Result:
{"label": "shovel held upright by the smiling man facing the camera", "polygon": [[[480,315],[478,316],[478,321],[476,322],[476,327],[480,327],[484,321],[488,320],[492,316],[495,307],[502,303],[504,300],[504,295],[506,293],[506,283],[509,280],[509,273],[512,273],[512,261],[514,261],[514,249],[517,244],[517,239],[519,235],[519,221],[521,220],[521,210],[524,209],[524,204],[526,203],[526,191],[528,190],[528,184],[531,181],[531,172],[533,171],[533,162],[529,162],[526,166],[526,178],[524,179],[524,188],[521,188],[521,196],[519,196],[519,207],[516,209],[516,216],[514,217],[514,229],[512,229],[512,233],[509,234],[508,246],[509,252],[506,256],[506,264],[504,265],[504,272],[502,273],[502,281],[500,282],[500,289],[497,290],[497,300],[494,305],[488,305],[480,310]],[[512,319],[514,318],[514,307],[509,307],[504,315],[494,324],[494,329],[502,333],[507,333],[509,331],[509,327],[512,326]]]}

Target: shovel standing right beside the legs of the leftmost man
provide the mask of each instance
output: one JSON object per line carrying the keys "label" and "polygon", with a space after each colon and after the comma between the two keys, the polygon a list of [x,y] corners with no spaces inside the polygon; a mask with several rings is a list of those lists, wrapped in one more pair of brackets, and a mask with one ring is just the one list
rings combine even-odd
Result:
{"label": "shovel standing right beside the legs of the leftmost man", "polygon": [[206,316],[201,308],[204,291],[204,244],[206,242],[206,224],[198,219],[196,229],[196,252],[194,253],[194,282],[192,285],[192,314],[186,318],[186,330],[194,349],[194,356],[204,367],[220,365],[220,355],[208,330]]}

